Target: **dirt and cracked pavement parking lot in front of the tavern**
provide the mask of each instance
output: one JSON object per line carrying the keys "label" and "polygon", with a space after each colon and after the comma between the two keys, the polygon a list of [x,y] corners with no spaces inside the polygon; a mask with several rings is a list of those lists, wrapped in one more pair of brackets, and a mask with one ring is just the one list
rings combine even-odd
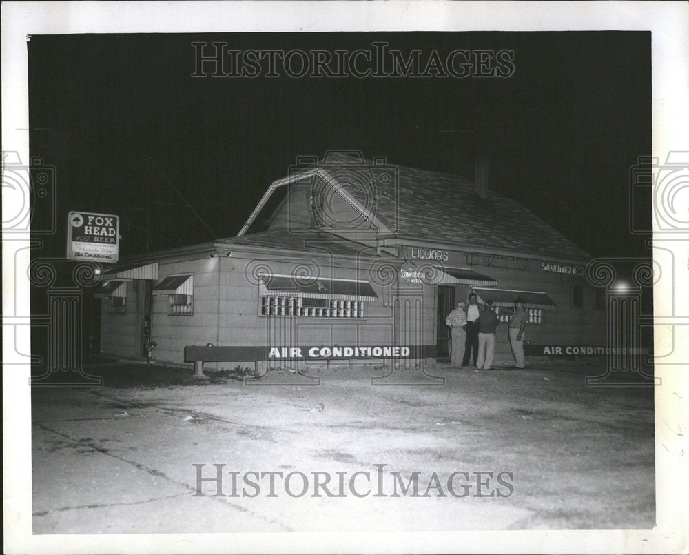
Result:
{"label": "dirt and cracked pavement parking lot in front of the tavern", "polygon": [[34,388],[34,533],[653,527],[652,387],[586,387],[602,362],[429,371]]}

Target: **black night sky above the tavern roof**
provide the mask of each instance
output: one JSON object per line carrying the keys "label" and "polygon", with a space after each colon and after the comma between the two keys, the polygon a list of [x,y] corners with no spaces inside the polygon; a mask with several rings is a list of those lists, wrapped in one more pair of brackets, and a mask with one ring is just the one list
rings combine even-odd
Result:
{"label": "black night sky above the tavern roof", "polygon": [[[192,78],[192,41],[506,48],[516,71]],[[232,236],[298,156],[332,149],[470,178],[474,153],[487,152],[491,188],[594,256],[648,254],[628,232],[629,168],[651,152],[648,32],[72,35],[32,37],[28,49],[31,154],[56,167],[59,232],[45,238],[56,255],[69,210],[119,214],[121,258],[145,250],[147,209],[151,249]],[[37,228],[47,216],[35,208]]]}

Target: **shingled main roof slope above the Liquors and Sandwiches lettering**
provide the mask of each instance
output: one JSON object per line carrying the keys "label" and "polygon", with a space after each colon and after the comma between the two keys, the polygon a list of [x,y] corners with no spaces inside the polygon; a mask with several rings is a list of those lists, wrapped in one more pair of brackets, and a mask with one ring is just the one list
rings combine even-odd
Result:
{"label": "shingled main roof slope above the Liquors and Sandwiches lettering", "polygon": [[[400,165],[366,165],[362,169],[360,160],[343,154],[329,154],[319,164],[397,237],[456,243],[462,249],[588,258],[582,248],[516,201],[493,190],[486,199],[478,196],[469,179]],[[347,172],[356,176],[343,179]],[[389,182],[395,173],[396,182]],[[362,174],[369,174],[368,190],[361,186]]]}

